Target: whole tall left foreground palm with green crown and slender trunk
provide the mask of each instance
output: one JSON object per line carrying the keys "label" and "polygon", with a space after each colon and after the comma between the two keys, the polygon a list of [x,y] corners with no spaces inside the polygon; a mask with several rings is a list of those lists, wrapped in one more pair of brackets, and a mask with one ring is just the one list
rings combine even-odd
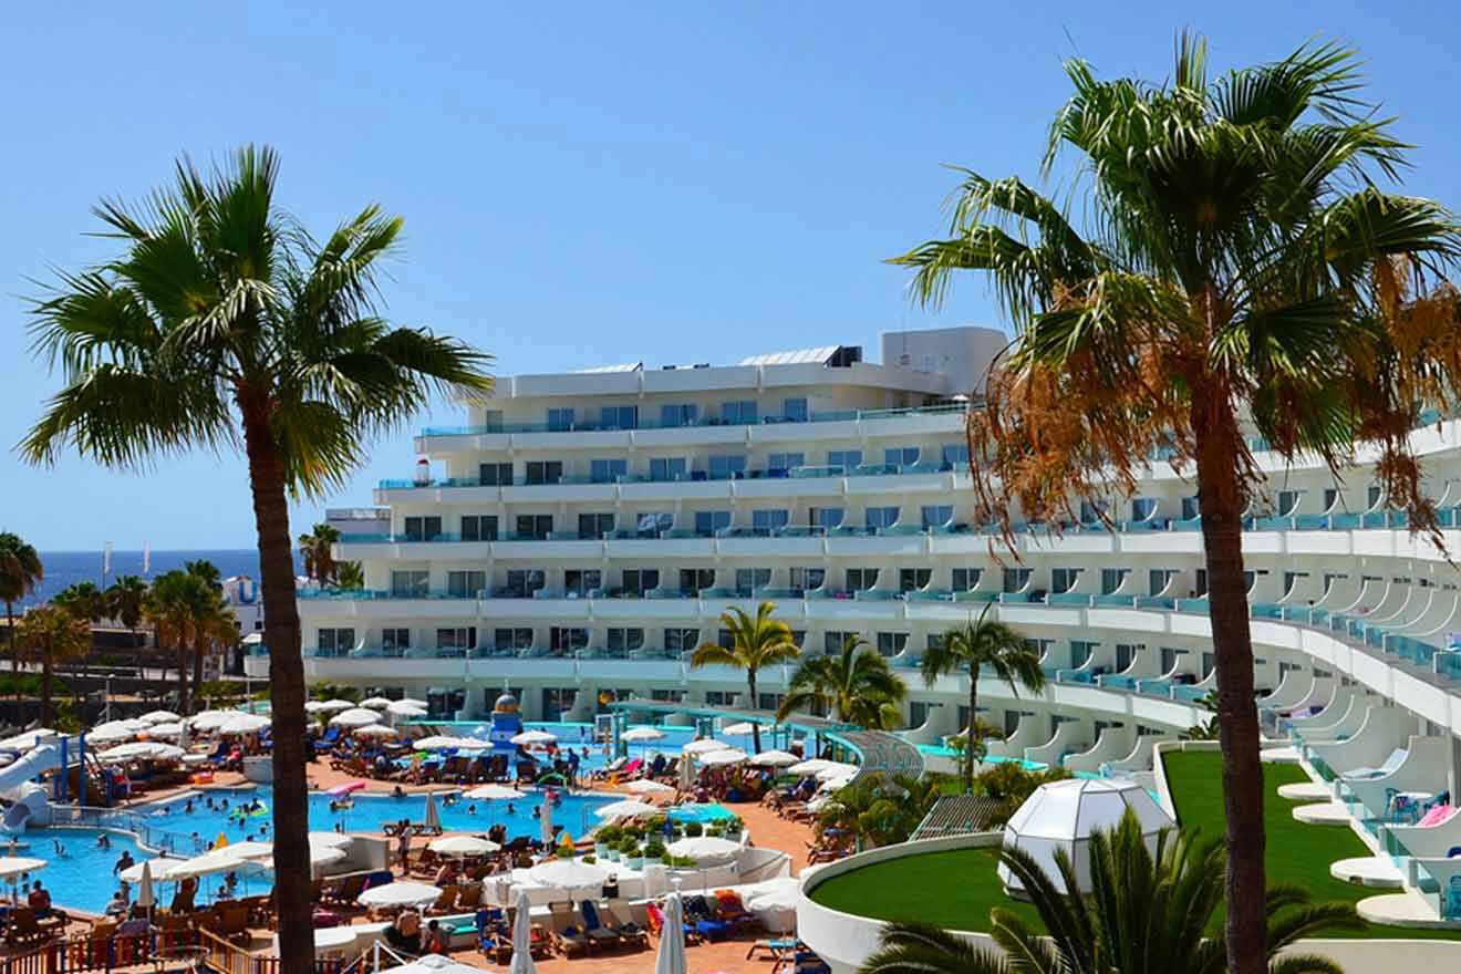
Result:
{"label": "whole tall left foreground palm with green crown and slender trunk", "polygon": [[61,275],[35,308],[64,386],[22,442],[124,469],[202,447],[248,464],[275,730],[275,878],[282,974],[307,974],[310,926],[304,662],[289,495],[323,496],[438,394],[491,390],[489,356],[380,315],[375,267],[402,221],[367,206],[323,241],[275,202],[278,156],[245,147],[210,174],[96,216],[121,253]]}

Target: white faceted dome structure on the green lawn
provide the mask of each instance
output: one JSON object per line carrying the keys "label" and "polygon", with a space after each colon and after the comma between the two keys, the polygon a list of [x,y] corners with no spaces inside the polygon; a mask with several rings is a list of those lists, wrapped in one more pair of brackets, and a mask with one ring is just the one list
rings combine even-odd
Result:
{"label": "white faceted dome structure on the green lawn", "polygon": [[[1055,886],[1068,892],[1055,866],[1055,850],[1064,848],[1075,866],[1080,892],[1090,892],[1091,832],[1115,828],[1126,809],[1141,822],[1141,834],[1153,851],[1157,847],[1157,832],[1176,827],[1172,816],[1135,781],[1071,778],[1037,787],[1005,825],[1004,844],[1017,845],[1033,856]],[[1011,892],[1023,889],[1004,864],[999,866],[999,879]]]}

